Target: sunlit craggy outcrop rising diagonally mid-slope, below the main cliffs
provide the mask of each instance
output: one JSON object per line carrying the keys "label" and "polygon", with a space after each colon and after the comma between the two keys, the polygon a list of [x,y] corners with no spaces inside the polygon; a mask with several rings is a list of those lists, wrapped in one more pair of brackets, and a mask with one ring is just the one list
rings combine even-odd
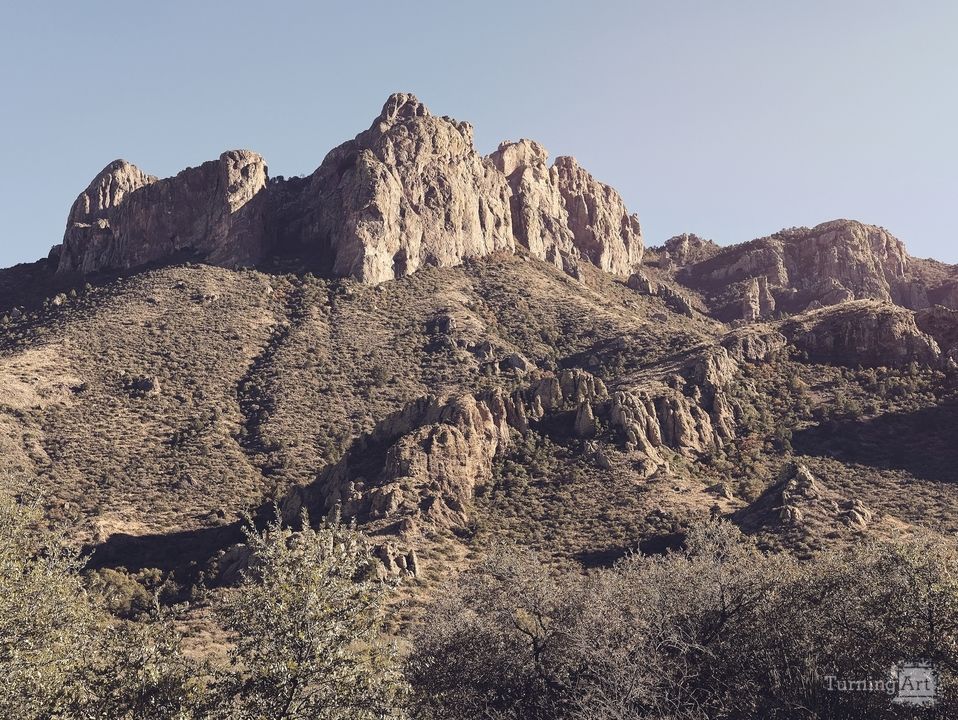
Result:
{"label": "sunlit craggy outcrop rising diagonally mid-slope, below the main cliffs", "polygon": [[422,398],[357,441],[316,483],[294,490],[283,514],[296,518],[304,507],[314,516],[338,512],[404,536],[422,526],[462,527],[475,488],[490,480],[493,458],[509,446],[512,432],[526,433],[530,421],[607,397],[601,380],[566,370],[511,395]]}

